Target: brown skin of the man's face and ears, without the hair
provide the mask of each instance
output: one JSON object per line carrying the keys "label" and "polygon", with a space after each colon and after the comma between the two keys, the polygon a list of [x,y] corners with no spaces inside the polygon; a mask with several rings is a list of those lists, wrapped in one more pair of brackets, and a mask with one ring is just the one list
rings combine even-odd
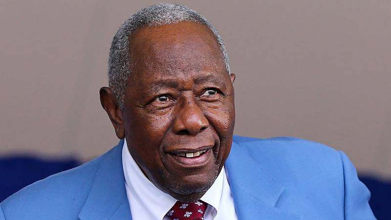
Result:
{"label": "brown skin of the man's face and ears, without the hair", "polygon": [[100,89],[102,106],[144,175],[177,200],[194,202],[231,149],[235,75],[212,32],[196,22],[142,28],[129,49],[124,108],[108,87]]}

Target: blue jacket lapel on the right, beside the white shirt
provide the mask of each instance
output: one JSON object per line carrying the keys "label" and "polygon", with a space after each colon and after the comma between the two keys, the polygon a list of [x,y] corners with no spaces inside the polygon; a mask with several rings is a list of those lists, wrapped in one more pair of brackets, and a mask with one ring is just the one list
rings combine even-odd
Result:
{"label": "blue jacket lapel on the right, beside the white shirt", "polygon": [[299,215],[276,207],[284,188],[235,142],[232,143],[225,169],[239,220],[300,219]]}

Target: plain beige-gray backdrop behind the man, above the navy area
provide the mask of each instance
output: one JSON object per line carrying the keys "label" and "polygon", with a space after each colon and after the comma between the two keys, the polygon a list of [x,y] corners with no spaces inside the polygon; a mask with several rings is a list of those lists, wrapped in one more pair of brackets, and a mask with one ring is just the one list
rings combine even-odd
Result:
{"label": "plain beige-gray backdrop behind the man, above the navy area", "polygon": [[[100,106],[111,38],[154,1],[0,2],[0,155],[83,160],[117,143]],[[391,178],[391,1],[181,1],[219,30],[235,133],[297,136]]]}

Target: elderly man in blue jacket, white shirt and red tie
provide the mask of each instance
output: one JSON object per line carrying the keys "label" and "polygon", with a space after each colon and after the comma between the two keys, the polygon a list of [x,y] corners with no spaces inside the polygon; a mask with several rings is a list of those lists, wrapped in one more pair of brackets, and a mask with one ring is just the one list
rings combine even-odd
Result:
{"label": "elderly man in blue jacket, white shirt and red tie", "polygon": [[167,3],[139,11],[114,36],[100,90],[121,141],[6,199],[0,220],[374,219],[344,153],[233,136],[234,80],[202,16]]}

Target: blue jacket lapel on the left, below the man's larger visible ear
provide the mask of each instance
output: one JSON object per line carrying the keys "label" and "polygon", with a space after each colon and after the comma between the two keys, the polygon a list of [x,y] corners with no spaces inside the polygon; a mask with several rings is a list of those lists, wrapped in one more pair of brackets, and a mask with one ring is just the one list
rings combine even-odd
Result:
{"label": "blue jacket lapel on the left, below the man's larger visible ear", "polygon": [[123,144],[121,140],[102,158],[91,191],[79,214],[81,220],[131,219],[122,168]]}

